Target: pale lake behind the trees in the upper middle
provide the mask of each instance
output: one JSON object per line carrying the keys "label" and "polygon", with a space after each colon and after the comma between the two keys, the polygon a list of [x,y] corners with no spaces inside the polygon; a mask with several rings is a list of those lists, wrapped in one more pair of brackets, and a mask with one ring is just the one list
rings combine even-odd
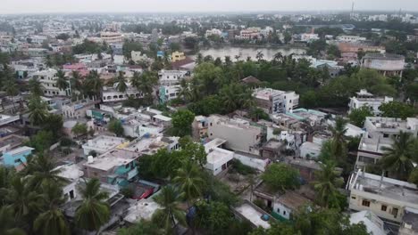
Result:
{"label": "pale lake behind the trees in the upper middle", "polygon": [[230,60],[235,61],[235,56],[239,55],[239,60],[247,60],[247,57],[251,57],[251,60],[255,61],[255,56],[258,52],[263,53],[263,60],[272,61],[274,54],[282,53],[283,55],[289,54],[303,54],[306,53],[304,48],[290,48],[290,47],[279,47],[279,48],[251,48],[251,47],[222,47],[222,48],[210,48],[207,50],[200,50],[199,53],[205,57],[206,55],[212,55],[213,59],[220,57],[223,61],[225,56],[230,56]]}

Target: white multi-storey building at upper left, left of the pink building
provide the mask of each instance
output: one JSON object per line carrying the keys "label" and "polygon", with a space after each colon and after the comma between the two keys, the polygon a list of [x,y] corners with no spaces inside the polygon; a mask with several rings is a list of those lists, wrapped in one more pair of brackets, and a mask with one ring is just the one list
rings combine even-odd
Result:
{"label": "white multi-storey building at upper left, left of the pink building", "polygon": [[38,79],[45,96],[71,95],[70,86],[66,90],[61,90],[56,86],[56,79],[58,79],[56,74],[55,69],[45,69],[33,73],[32,78]]}

